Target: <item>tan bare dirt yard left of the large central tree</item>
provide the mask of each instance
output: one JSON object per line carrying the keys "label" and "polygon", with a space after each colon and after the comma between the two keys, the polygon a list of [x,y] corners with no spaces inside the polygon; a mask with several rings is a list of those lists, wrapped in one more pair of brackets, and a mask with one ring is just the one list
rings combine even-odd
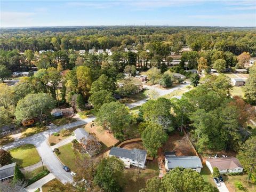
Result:
{"label": "tan bare dirt yard left of the large central tree", "polygon": [[[94,124],[94,126],[91,126],[92,124]],[[107,147],[113,146],[118,142],[118,140],[114,138],[113,133],[104,130],[101,126],[98,126],[95,123],[86,124],[84,129],[89,133],[95,133],[96,138]]]}

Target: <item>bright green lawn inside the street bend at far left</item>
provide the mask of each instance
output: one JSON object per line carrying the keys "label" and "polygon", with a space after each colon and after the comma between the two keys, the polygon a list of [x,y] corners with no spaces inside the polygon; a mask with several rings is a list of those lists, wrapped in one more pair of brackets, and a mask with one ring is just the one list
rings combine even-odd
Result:
{"label": "bright green lawn inside the street bend at far left", "polygon": [[34,145],[26,144],[10,150],[13,157],[13,162],[16,162],[20,167],[34,165],[40,161],[40,156]]}

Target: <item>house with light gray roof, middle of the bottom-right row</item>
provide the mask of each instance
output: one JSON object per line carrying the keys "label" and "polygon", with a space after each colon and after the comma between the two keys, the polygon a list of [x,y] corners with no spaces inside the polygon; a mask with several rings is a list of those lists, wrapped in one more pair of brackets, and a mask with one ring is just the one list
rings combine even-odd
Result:
{"label": "house with light gray roof, middle of the bottom-right row", "polygon": [[203,168],[201,159],[198,156],[167,156],[165,155],[165,169],[170,171],[175,167],[193,169],[200,173]]}

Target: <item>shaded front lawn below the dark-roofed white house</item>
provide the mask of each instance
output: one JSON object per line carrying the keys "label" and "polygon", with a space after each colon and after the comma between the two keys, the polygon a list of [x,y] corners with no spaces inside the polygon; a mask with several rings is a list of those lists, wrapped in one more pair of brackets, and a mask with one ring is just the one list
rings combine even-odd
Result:
{"label": "shaded front lawn below the dark-roofed white house", "polygon": [[148,179],[158,176],[159,170],[157,162],[147,162],[146,166],[147,169],[140,170],[140,173],[138,169],[135,168],[125,169],[125,192],[139,191],[146,186]]}

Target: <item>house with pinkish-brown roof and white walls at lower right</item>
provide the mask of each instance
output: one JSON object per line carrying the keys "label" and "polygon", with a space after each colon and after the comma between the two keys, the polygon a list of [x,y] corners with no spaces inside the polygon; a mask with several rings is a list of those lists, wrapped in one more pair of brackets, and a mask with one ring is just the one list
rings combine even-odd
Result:
{"label": "house with pinkish-brown roof and white walls at lower right", "polygon": [[236,157],[209,158],[205,164],[211,172],[213,167],[217,167],[221,174],[243,172],[243,166]]}

